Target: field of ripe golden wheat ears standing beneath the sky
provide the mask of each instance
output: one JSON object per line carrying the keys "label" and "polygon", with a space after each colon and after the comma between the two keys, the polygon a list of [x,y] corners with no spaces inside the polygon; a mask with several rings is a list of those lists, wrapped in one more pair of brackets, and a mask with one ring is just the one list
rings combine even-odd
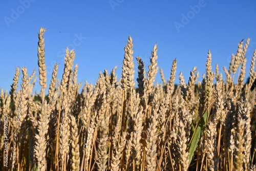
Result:
{"label": "field of ripe golden wheat ears standing beneath the sky", "polygon": [[202,81],[196,67],[185,81],[175,59],[169,78],[160,69],[156,83],[157,45],[145,69],[129,36],[119,80],[114,68],[94,85],[79,83],[75,51],[66,49],[65,68],[55,64],[47,92],[45,31],[38,33],[39,94],[35,71],[26,67],[16,68],[10,90],[1,89],[0,170],[256,170],[256,50],[246,81],[249,38],[224,73],[212,68],[208,51]]}

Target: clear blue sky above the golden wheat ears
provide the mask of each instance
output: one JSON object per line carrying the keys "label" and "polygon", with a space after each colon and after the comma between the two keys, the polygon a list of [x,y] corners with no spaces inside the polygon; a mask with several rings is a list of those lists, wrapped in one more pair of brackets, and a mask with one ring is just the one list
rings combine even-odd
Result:
{"label": "clear blue sky above the golden wheat ears", "polygon": [[[100,71],[118,66],[121,76],[127,37],[134,42],[134,61],[138,55],[145,66],[158,44],[158,66],[165,78],[177,58],[177,78],[182,72],[186,82],[194,66],[205,72],[208,49],[212,67],[229,65],[238,43],[250,38],[247,51],[247,75],[253,50],[256,49],[255,1],[36,1],[0,2],[0,87],[10,90],[16,67],[37,69],[37,33],[45,33],[48,84],[54,63],[59,63],[58,78],[63,72],[66,47],[76,50],[78,81],[95,83]],[[147,67],[146,67],[147,69]],[[137,71],[137,68],[136,68]],[[135,73],[137,77],[137,72]],[[160,74],[156,78],[161,82]],[[20,82],[19,82],[20,85]],[[19,86],[20,87],[20,86]],[[37,81],[35,91],[39,91]]]}

